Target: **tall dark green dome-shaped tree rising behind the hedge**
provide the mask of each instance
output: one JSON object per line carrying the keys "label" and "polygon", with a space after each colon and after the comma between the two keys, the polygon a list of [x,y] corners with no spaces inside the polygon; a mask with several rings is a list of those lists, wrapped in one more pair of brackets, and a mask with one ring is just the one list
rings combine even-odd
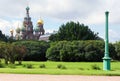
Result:
{"label": "tall dark green dome-shaped tree rising behind the hedge", "polygon": [[98,33],[91,31],[88,26],[71,21],[61,25],[58,32],[51,35],[49,40],[101,40],[101,38],[98,36]]}

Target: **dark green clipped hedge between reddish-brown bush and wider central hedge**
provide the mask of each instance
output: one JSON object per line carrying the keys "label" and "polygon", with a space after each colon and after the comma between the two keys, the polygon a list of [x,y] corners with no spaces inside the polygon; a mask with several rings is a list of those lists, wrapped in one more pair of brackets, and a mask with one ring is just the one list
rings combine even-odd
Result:
{"label": "dark green clipped hedge between reddish-brown bush and wider central hedge", "polygon": [[46,50],[49,43],[45,41],[17,41],[16,45],[24,45],[27,49],[27,54],[24,57],[25,61],[46,61]]}

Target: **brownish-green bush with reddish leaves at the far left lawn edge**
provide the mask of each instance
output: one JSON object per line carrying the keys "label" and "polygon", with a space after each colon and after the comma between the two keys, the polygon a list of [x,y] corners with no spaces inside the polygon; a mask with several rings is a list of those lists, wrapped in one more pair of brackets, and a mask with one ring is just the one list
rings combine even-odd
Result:
{"label": "brownish-green bush with reddish leaves at the far left lawn edge", "polygon": [[[5,64],[14,64],[16,58],[21,64],[22,56],[26,53],[26,48],[24,46],[18,47],[17,45],[11,43],[0,42],[0,57],[4,58]],[[24,52],[23,52],[24,51]]]}

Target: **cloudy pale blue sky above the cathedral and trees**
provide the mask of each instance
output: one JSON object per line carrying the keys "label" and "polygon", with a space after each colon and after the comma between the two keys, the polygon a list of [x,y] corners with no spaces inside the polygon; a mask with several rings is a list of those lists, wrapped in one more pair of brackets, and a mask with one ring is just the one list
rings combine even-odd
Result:
{"label": "cloudy pale blue sky above the cathedral and trees", "polygon": [[109,41],[120,40],[119,0],[0,0],[0,30],[10,35],[10,29],[20,27],[29,4],[34,27],[44,20],[46,32],[58,30],[68,21],[79,21],[104,38],[105,11],[109,11]]}

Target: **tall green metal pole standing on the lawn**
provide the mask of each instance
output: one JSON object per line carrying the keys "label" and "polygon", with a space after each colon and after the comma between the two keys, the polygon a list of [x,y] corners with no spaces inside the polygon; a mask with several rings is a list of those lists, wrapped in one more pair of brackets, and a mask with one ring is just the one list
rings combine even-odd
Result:
{"label": "tall green metal pole standing on the lawn", "polygon": [[109,12],[105,12],[106,16],[106,25],[105,25],[105,54],[103,57],[103,70],[110,70],[110,61],[111,58],[109,57],[109,36],[108,36],[108,16]]}

